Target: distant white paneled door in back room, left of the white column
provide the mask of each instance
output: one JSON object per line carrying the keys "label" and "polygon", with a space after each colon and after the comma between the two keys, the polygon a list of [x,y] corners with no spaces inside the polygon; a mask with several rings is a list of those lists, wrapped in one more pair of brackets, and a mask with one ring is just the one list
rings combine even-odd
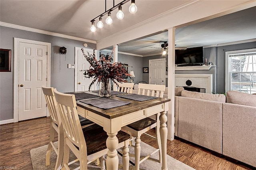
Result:
{"label": "distant white paneled door in back room, left of the white column", "polygon": [[165,85],[165,59],[149,60],[149,84]]}

